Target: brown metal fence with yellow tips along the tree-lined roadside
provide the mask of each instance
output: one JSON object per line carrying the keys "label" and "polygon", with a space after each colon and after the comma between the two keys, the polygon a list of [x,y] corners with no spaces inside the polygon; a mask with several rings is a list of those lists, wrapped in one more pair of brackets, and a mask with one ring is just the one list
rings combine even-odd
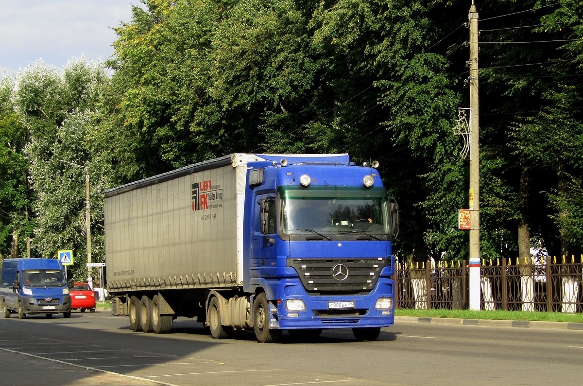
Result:
{"label": "brown metal fence with yellow tips along the tree-lined roadside", "polygon": [[[583,261],[583,257],[581,260]],[[482,310],[583,313],[583,263],[575,258],[484,260],[480,264]],[[395,307],[469,308],[467,261],[399,263]]]}

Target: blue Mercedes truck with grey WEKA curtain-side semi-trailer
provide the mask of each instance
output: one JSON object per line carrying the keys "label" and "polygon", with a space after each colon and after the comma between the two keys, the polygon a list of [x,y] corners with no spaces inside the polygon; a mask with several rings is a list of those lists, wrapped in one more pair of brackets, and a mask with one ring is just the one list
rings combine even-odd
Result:
{"label": "blue Mercedes truck with grey WEKA curtain-side semi-trailer", "polygon": [[394,322],[398,207],[377,163],[233,154],[104,193],[112,313],[164,333],[196,317],[259,342]]}

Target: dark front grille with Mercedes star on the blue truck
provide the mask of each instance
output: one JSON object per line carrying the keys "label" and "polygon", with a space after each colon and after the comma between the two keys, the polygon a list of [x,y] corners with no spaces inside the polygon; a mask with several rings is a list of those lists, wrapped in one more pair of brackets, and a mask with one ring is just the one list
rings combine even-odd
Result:
{"label": "dark front grille with Mercedes star on the blue truck", "polygon": [[288,259],[305,290],[312,293],[366,293],[377,283],[389,258]]}

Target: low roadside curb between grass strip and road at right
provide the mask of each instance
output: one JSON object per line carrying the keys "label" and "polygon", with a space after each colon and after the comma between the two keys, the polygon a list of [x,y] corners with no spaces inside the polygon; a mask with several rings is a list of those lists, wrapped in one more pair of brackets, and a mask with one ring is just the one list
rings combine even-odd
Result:
{"label": "low roadside curb between grass strip and road at right", "polygon": [[540,322],[540,321],[523,321],[523,320],[489,320],[489,319],[455,319],[455,318],[427,318],[427,317],[410,317],[395,316],[396,321],[435,323],[435,324],[454,324],[469,326],[487,326],[487,327],[520,327],[520,328],[556,328],[583,331],[583,323],[574,322]]}

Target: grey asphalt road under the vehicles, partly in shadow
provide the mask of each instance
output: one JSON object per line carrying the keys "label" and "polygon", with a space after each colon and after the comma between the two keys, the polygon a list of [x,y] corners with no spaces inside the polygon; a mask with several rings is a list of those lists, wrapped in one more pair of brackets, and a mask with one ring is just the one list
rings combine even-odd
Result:
{"label": "grey asphalt road under the vehicles, partly in shadow", "polygon": [[0,385],[582,384],[582,357],[581,329],[398,320],[375,342],[329,330],[266,345],[215,341],[185,318],[164,335],[108,311],[0,319]]}

